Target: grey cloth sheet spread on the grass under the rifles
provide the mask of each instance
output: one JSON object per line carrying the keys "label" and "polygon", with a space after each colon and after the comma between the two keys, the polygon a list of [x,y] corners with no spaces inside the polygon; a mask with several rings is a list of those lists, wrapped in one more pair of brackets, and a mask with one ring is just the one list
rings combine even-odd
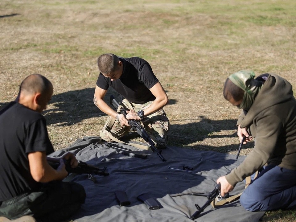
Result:
{"label": "grey cloth sheet spread on the grass under the rifles", "polygon": [[[76,175],[72,179],[84,186],[87,195],[81,210],[71,218],[75,221],[192,221],[189,217],[196,212],[195,204],[202,206],[207,198],[171,195],[212,191],[219,176],[227,174],[244,160],[244,157],[239,157],[235,161],[235,156],[224,153],[169,146],[162,151],[167,162],[162,162],[155,152],[141,150],[140,153],[148,154],[147,159],[141,159],[123,155],[104,144],[99,137],[85,137],[50,155],[59,157],[64,152],[71,151],[79,161],[100,168],[107,167],[109,175],[94,175],[96,183],[88,180],[86,174]],[[133,149],[130,146],[129,148]],[[192,167],[193,171],[168,168],[182,168],[183,165]],[[244,182],[238,183],[230,195],[242,192],[244,187]],[[125,191],[131,205],[120,206],[115,191]],[[137,200],[137,196],[142,193],[157,199],[160,209],[149,210]],[[259,221],[264,213],[248,212],[237,200],[215,210],[208,206],[195,221]]]}

